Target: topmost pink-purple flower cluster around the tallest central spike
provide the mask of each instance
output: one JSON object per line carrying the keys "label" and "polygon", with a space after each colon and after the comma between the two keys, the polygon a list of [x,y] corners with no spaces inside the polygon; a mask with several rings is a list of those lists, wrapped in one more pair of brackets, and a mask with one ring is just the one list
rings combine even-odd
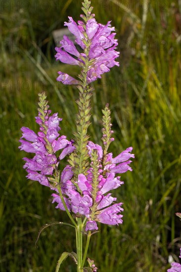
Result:
{"label": "topmost pink-purple flower cluster around the tallest central spike", "polygon": [[[81,15],[81,17],[85,19],[84,15]],[[114,39],[116,33],[112,32],[115,28],[111,27],[111,21],[106,25],[102,25],[98,24],[93,17],[94,14],[91,14],[89,20],[85,20],[85,23],[78,21],[78,24],[72,17],[68,17],[69,22],[65,22],[64,24],[76,37],[75,42],[77,45],[83,50],[89,47],[88,52],[84,51],[80,53],[67,36],[64,36],[64,39],[60,41],[60,47],[55,47],[57,51],[55,58],[63,63],[85,66],[85,58],[89,60],[87,72],[88,84],[97,78],[101,78],[101,75],[109,72],[113,66],[119,66],[119,62],[115,61],[119,56],[119,52],[115,50],[118,45],[117,40]],[[58,74],[57,81],[61,81],[63,84],[80,84],[78,80],[66,73],[58,72]]]}

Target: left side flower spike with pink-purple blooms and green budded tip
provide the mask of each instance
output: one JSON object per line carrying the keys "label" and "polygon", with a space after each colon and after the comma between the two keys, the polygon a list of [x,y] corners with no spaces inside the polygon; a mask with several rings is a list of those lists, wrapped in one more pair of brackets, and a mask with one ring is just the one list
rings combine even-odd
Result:
{"label": "left side flower spike with pink-purple blooms and green budded tip", "polygon": [[[21,146],[19,148],[29,153],[35,153],[33,159],[23,158],[26,162],[23,168],[28,172],[26,177],[49,187],[51,185],[48,176],[52,176],[60,160],[71,153],[75,147],[72,141],[66,139],[66,136],[59,137],[59,122],[62,119],[58,117],[57,113],[50,116],[51,110],[48,109],[49,106],[45,97],[44,93],[40,96],[39,115],[36,117],[40,131],[36,134],[29,128],[22,127],[22,137],[19,140]],[[57,158],[55,153],[60,149],[63,150]]]}

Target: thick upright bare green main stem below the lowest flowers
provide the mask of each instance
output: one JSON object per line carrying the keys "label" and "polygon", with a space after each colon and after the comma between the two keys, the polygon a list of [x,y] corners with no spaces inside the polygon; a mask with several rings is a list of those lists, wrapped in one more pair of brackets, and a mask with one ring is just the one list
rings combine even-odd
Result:
{"label": "thick upright bare green main stem below the lowest flowers", "polygon": [[78,218],[78,225],[76,228],[76,240],[77,240],[77,272],[83,272],[82,267],[82,219]]}

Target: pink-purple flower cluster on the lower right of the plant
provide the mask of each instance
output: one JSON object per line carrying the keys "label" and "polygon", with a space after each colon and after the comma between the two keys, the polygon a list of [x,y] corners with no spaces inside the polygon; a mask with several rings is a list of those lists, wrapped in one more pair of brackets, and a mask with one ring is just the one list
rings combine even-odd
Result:
{"label": "pink-purple flower cluster on the lower right of the plant", "polygon": [[[67,166],[61,175],[61,189],[64,194],[65,203],[69,211],[72,210],[77,216],[84,215],[88,218],[86,230],[98,229],[96,221],[108,225],[121,224],[123,222],[121,219],[123,215],[120,214],[123,211],[123,208],[121,208],[122,203],[110,206],[116,201],[116,198],[112,197],[111,193],[108,192],[124,183],[120,181],[120,177],[115,177],[117,173],[121,174],[128,170],[132,171],[132,168],[129,166],[131,163],[129,159],[131,157],[134,158],[134,154],[130,153],[133,148],[127,148],[115,158],[112,158],[112,153],[108,153],[105,166],[102,165],[102,147],[89,141],[87,148],[90,159],[92,159],[92,152],[97,153],[98,175],[96,187],[93,181],[93,168],[91,167],[93,162],[90,164],[88,175],[80,174],[78,181],[75,183],[71,181],[73,177],[71,167]],[[64,210],[60,196],[54,193],[52,196],[54,198],[53,203],[58,203],[56,208]]]}

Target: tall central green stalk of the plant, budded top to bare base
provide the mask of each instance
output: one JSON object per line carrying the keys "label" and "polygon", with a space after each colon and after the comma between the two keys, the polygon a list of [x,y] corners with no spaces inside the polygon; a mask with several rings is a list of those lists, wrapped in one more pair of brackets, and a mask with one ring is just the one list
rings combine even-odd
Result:
{"label": "tall central green stalk of the plant, budded top to bare base", "polygon": [[[85,16],[83,16],[83,20],[85,23],[92,18],[90,15],[91,13],[91,7],[90,7],[90,1],[85,0],[85,3],[83,3],[83,11],[85,13]],[[78,179],[79,174],[86,174],[89,167],[89,155],[88,155],[88,149],[87,144],[89,140],[89,136],[87,134],[88,128],[90,126],[90,98],[92,95],[92,88],[89,86],[87,77],[88,77],[88,71],[89,67],[91,65],[90,59],[89,59],[89,52],[90,52],[90,39],[86,33],[86,25],[82,24],[83,31],[82,34],[84,35],[84,38],[82,39],[82,42],[85,45],[84,53],[81,56],[80,62],[82,71],[81,75],[79,75],[79,79],[81,81],[81,84],[78,85],[79,89],[79,99],[77,100],[78,104],[78,114],[77,114],[77,120],[76,120],[76,127],[77,131],[74,134],[75,136],[75,152],[72,153],[72,156],[70,156],[69,163],[73,167],[74,172],[74,181]],[[76,229],[76,236],[77,236],[77,271],[83,272],[83,265],[82,265],[82,242],[83,242],[83,224],[82,224],[82,218],[77,219],[77,229]]]}

